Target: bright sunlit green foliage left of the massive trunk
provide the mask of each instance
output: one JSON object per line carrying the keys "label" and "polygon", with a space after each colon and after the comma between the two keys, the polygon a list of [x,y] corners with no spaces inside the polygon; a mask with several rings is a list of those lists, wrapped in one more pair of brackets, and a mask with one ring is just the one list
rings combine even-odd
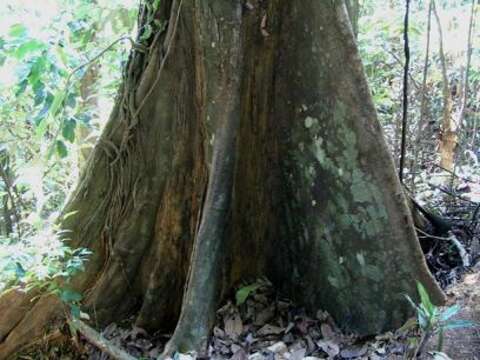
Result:
{"label": "bright sunlit green foliage left of the massive trunk", "polygon": [[[126,0],[100,0],[95,6],[84,0],[8,0],[2,5],[0,151],[5,176],[0,177],[0,192],[1,218],[9,230],[0,237],[0,290],[30,275],[53,275],[56,267],[50,262],[57,263],[52,257],[63,246],[51,247],[61,244],[52,224],[77,181],[77,154],[86,149],[82,134],[94,138],[108,117],[125,46],[117,42],[91,64],[103,70],[94,86],[87,85],[92,66],[82,65],[112,39],[128,34],[137,12]],[[90,106],[93,100],[98,107]]]}

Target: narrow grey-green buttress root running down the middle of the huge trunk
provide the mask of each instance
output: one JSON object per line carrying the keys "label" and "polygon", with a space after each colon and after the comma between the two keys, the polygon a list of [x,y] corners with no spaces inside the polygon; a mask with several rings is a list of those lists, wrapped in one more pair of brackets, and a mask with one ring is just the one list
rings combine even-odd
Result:
{"label": "narrow grey-green buttress root running down the middle of the huge trunk", "polygon": [[[222,64],[214,86],[222,89],[208,116],[216,118],[218,129],[213,147],[212,170],[206,199],[195,238],[187,289],[183,298],[180,319],[163,357],[175,351],[207,350],[208,338],[215,321],[215,309],[222,288],[222,264],[225,256],[225,233],[231,208],[235,174],[235,147],[240,123],[241,78],[243,56],[238,29],[242,23],[241,6],[232,4],[222,9],[228,21],[222,25],[225,35],[219,44],[218,57]],[[198,15],[200,18],[203,13]],[[232,26],[233,24],[233,26]],[[210,34],[206,34],[207,40]],[[201,37],[201,36],[200,36]],[[234,59],[234,60],[232,60]]]}

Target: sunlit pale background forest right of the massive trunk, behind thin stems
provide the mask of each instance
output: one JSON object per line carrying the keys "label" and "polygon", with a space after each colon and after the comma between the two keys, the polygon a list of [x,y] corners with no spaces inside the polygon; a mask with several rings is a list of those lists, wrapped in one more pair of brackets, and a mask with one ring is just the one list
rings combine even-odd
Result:
{"label": "sunlit pale background forest right of the massive trunk, behind thin stems", "polygon": [[[401,84],[402,84],[402,61],[401,35],[403,1],[391,1],[390,7],[381,7],[379,2],[368,1],[362,6],[360,17],[359,48],[365,65],[366,74],[371,85],[374,103],[376,105],[380,123],[385,131],[387,143],[398,159],[398,118],[401,113]],[[440,168],[439,139],[441,134],[441,119],[443,113],[443,84],[442,65],[438,51],[439,36],[437,31],[429,28],[430,2],[419,1],[411,4],[410,21],[410,91],[409,103],[409,127],[407,132],[407,162],[406,178],[409,188],[415,190],[417,200],[422,204],[435,203],[438,211],[448,215],[448,210],[441,201],[437,201],[445,191],[449,197],[458,200],[460,192],[465,199],[478,201],[476,194],[476,182],[478,182],[476,146],[473,146],[472,135],[476,133],[476,119],[478,118],[478,96],[474,89],[478,86],[478,74],[474,64],[478,65],[478,32],[475,31],[475,19],[472,14],[472,2],[454,0],[438,2],[439,16],[444,27],[443,50],[448,66],[448,82],[450,84],[450,96],[452,98],[452,117],[454,125],[462,108],[462,96],[465,82],[465,70],[467,68],[467,43],[469,38],[472,45],[471,65],[469,66],[467,93],[469,100],[466,101],[465,118],[463,126],[457,129],[457,150],[454,158],[454,172],[456,181],[451,182],[452,173]],[[441,10],[440,10],[441,9]],[[470,24],[473,21],[473,30]],[[436,28],[433,17],[433,30]],[[427,40],[430,44],[427,50]],[[427,58],[427,52],[429,57]],[[428,59],[428,72],[425,60]],[[426,77],[424,76],[426,75]],[[424,82],[425,80],[425,82]],[[425,84],[425,86],[423,86]],[[476,136],[476,135],[475,135]],[[469,139],[469,140],[467,140]],[[417,159],[417,160],[415,160]],[[411,165],[410,165],[411,164]],[[468,178],[472,182],[458,181],[460,177]],[[452,186],[453,185],[453,186]],[[455,200],[455,201],[456,201]],[[456,203],[455,206],[461,204]],[[474,206],[473,204],[471,204]],[[470,205],[469,205],[470,206]],[[471,214],[470,214],[471,215]],[[465,214],[466,217],[470,216]],[[455,216],[458,216],[455,215]],[[463,215],[462,215],[463,216]]]}

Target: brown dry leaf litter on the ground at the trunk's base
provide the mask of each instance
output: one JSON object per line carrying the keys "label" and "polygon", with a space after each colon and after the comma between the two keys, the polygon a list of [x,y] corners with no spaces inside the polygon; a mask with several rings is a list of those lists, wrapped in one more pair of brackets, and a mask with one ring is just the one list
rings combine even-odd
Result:
{"label": "brown dry leaf litter on the ground at the trunk's base", "polygon": [[[461,305],[455,318],[480,323],[480,264],[446,289],[449,305]],[[240,288],[236,296],[217,312],[208,354],[203,359],[233,360],[403,360],[411,359],[420,338],[412,318],[394,332],[358,338],[342,332],[333,319],[319,311],[308,316],[301,307],[279,296],[271,284],[259,279]],[[68,331],[67,331],[68,332]],[[130,322],[112,323],[101,332],[110,344],[137,359],[156,359],[169,334],[147,334]],[[107,360],[81,335],[64,337],[63,343],[45,344],[20,355],[19,359]],[[69,343],[70,345],[65,345]],[[73,344],[73,345],[72,345]],[[427,351],[436,350],[438,337],[430,340]],[[452,360],[480,360],[480,328],[465,328],[444,333],[443,352]],[[196,356],[177,354],[176,360]],[[446,360],[425,353],[421,359]]]}

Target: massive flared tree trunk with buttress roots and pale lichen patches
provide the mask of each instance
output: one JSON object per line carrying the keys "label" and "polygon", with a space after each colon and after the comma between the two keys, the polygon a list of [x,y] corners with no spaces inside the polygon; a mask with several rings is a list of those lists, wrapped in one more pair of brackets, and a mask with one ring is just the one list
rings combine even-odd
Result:
{"label": "massive flared tree trunk with buttress roots and pale lichen patches", "polygon": [[[416,281],[441,303],[344,3],[242,4],[141,9],[153,34],[130,55],[62,223],[93,250],[74,279],[85,311],[99,325],[132,312],[148,330],[176,325],[169,353],[204,348],[219,301],[248,277],[363,335],[412,315]],[[42,333],[46,301],[2,314],[0,358]]]}

